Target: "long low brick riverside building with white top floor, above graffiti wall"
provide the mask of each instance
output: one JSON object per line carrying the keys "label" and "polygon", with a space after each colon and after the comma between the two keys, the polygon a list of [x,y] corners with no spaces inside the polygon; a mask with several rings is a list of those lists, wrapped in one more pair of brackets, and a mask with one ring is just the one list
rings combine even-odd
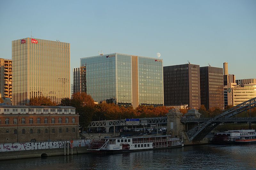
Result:
{"label": "long low brick riverside building with white top floor, above graffiti wall", "polygon": [[0,143],[79,138],[75,107],[0,106]]}

